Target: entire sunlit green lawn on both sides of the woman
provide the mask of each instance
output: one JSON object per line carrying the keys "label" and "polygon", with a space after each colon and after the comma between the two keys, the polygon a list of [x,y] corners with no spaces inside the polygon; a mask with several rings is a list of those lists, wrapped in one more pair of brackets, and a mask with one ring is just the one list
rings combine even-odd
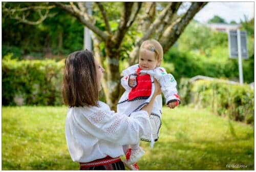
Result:
{"label": "entire sunlit green lawn on both sides of the woman", "polygon": [[[76,170],[66,138],[67,107],[2,107],[2,169]],[[160,138],[138,162],[141,170],[254,169],[250,125],[179,106],[163,109]]]}

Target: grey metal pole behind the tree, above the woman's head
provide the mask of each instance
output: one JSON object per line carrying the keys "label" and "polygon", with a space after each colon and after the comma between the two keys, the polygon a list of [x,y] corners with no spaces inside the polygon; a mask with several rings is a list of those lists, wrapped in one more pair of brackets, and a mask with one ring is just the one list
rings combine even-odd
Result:
{"label": "grey metal pole behind the tree, above the woman's head", "polygon": [[[92,15],[92,2],[86,2],[86,8],[88,10],[88,14]],[[83,49],[92,51],[91,33],[87,27],[83,28]]]}

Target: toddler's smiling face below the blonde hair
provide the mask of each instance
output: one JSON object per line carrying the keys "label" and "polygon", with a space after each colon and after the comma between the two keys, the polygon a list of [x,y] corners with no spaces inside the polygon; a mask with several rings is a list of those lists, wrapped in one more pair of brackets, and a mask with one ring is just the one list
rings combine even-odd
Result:
{"label": "toddler's smiling face below the blonde hair", "polygon": [[150,50],[141,50],[139,57],[139,66],[142,70],[153,70],[160,65],[160,61],[156,59],[155,53]]}

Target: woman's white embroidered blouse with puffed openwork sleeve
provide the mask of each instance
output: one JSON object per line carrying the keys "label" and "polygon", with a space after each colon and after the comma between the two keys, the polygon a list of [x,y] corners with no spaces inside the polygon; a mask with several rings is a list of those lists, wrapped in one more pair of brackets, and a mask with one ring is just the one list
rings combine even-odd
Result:
{"label": "woman's white embroidered blouse with puffed openwork sleeve", "polygon": [[127,117],[101,101],[99,107],[70,107],[67,114],[66,139],[71,158],[77,162],[122,156],[122,145],[138,143],[151,132],[146,111]]}

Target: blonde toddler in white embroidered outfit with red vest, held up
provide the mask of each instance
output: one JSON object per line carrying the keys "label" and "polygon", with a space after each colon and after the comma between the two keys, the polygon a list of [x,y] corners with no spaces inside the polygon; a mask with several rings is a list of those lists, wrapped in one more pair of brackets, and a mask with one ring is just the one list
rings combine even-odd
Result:
{"label": "blonde toddler in white embroidered outfit with red vest, held up", "polygon": [[[154,78],[161,85],[161,91],[166,98],[166,105],[175,108],[180,103],[177,94],[176,80],[173,75],[167,74],[163,67],[160,67],[163,59],[163,49],[157,40],[145,40],[139,50],[139,63],[125,69],[122,74],[121,84],[125,92],[117,104],[117,112],[128,114],[141,110],[150,102],[154,93]],[[161,126],[162,97],[155,98],[153,110],[150,115],[151,125],[147,126],[146,134],[141,136],[141,140],[154,142],[158,140]],[[134,128],[136,130],[136,128]],[[124,163],[130,169],[138,170],[137,161],[144,155],[144,150],[139,146],[139,142],[132,145],[123,145],[126,155]]]}

